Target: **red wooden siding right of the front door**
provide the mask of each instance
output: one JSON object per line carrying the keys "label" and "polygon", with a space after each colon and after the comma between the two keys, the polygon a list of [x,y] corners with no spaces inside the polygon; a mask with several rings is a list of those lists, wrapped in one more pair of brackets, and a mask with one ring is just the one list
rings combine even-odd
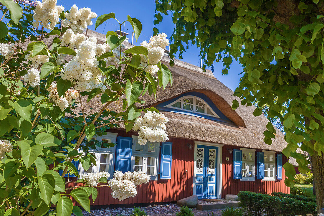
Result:
{"label": "red wooden siding right of the front door", "polygon": [[[222,197],[225,198],[226,194],[237,194],[238,191],[253,191],[262,194],[271,194],[272,192],[290,193],[289,187],[284,184],[285,175],[283,173],[282,180],[275,181],[240,181],[233,179],[233,153],[230,154],[227,149],[239,149],[237,146],[223,146],[223,166],[222,166]],[[261,150],[257,150],[261,151]],[[226,157],[229,158],[226,161]],[[287,161],[287,158],[283,155],[283,164]],[[277,172],[277,171],[276,171]]]}

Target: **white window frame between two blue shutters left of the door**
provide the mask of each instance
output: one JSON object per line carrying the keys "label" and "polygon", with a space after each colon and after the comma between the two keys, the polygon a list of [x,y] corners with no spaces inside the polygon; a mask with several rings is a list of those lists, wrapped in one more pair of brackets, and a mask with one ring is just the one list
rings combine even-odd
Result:
{"label": "white window frame between two blue shutters left of the door", "polygon": [[142,170],[143,171],[146,171],[146,168],[147,168],[147,158],[148,157],[153,157],[155,158],[155,161],[154,161],[154,166],[155,166],[155,172],[154,172],[154,175],[150,175],[151,177],[151,181],[157,181],[158,179],[158,162],[159,162],[159,155],[160,155],[160,143],[156,142],[155,143],[155,152],[149,152],[147,151],[147,147],[148,147],[148,144],[145,144],[143,146],[143,151],[136,151],[135,148],[136,148],[136,144],[137,144],[137,140],[138,140],[138,136],[132,136],[133,138],[133,148],[132,148],[132,163],[131,163],[131,167],[132,167],[132,171],[135,170],[135,157],[138,156],[138,157],[143,157],[143,168]]}

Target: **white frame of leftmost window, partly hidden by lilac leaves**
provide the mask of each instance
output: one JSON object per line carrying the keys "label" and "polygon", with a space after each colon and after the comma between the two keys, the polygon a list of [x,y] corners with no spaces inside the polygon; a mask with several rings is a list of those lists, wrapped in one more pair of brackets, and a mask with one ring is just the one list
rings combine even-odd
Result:
{"label": "white frame of leftmost window, partly hidden by lilac leaves", "polygon": [[[116,143],[117,140],[117,133],[110,133],[107,132],[106,135],[102,135],[101,137],[99,136],[94,136],[98,141],[102,141],[102,139],[110,139],[110,142]],[[109,154],[109,169],[108,173],[110,174],[110,178],[113,177],[114,171],[115,171],[115,152],[116,152],[116,145],[114,147],[109,147],[109,148],[101,148],[97,147],[97,149],[89,149],[89,153],[93,153],[96,156],[96,163],[97,166],[94,166],[91,172],[99,172],[99,167],[100,167],[100,154]],[[79,174],[83,174],[85,171],[82,167],[81,162],[79,163]]]}

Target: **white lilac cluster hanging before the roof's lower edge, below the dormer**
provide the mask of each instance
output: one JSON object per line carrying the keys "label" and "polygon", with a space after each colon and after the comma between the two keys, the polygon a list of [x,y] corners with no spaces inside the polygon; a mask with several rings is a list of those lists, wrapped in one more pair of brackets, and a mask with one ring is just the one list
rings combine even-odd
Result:
{"label": "white lilac cluster hanging before the roof's lower edge, below the dormer", "polygon": [[168,118],[162,113],[147,111],[144,117],[135,120],[133,130],[138,131],[138,144],[145,145],[149,142],[165,142],[168,134],[166,133],[166,123]]}

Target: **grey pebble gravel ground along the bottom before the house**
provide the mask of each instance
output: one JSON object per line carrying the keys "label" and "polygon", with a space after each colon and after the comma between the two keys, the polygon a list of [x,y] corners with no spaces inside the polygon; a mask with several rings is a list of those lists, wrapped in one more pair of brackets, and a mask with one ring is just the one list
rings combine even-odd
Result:
{"label": "grey pebble gravel ground along the bottom before the house", "polygon": [[[145,210],[147,216],[175,216],[180,210],[180,207],[176,204],[165,205],[152,205],[147,207],[140,207],[141,210]],[[192,209],[193,214],[196,216],[220,216],[223,209],[201,211],[196,208]],[[133,208],[117,208],[117,209],[96,209],[91,210],[91,213],[83,211],[84,216],[128,216],[131,215]]]}

